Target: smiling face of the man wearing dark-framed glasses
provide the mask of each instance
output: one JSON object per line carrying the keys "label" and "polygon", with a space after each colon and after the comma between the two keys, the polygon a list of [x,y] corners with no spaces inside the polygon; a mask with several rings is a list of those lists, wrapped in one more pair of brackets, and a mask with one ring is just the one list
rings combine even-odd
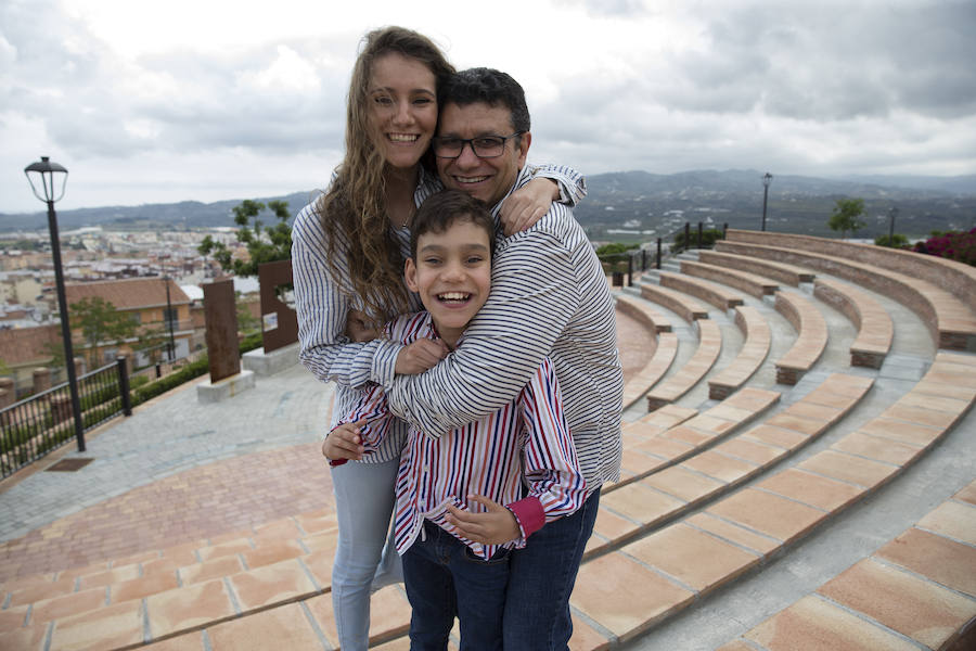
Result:
{"label": "smiling face of the man wearing dark-framed glasses", "polygon": [[[445,104],[440,111],[440,126],[437,135],[441,138],[481,138],[485,136],[511,136],[512,113],[506,106],[491,106],[475,102],[466,106]],[[521,141],[519,141],[521,140]],[[462,190],[489,206],[500,202],[525,165],[531,133],[525,132],[521,139],[505,141],[500,156],[481,158],[475,155],[467,143],[457,158],[437,157],[437,171],[445,187]]]}

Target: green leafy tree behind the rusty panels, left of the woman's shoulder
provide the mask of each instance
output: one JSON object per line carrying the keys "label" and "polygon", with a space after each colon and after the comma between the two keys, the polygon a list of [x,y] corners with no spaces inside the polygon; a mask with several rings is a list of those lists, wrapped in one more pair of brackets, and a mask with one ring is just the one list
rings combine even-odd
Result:
{"label": "green leafy tree behind the rusty panels, left of the woman's shoulder", "polygon": [[[278,221],[265,228],[258,219],[262,210],[270,208]],[[237,230],[237,240],[247,246],[248,260],[234,258],[231,251],[222,243],[215,242],[210,235],[204,238],[197,247],[201,255],[211,255],[220,264],[224,271],[232,271],[234,276],[257,276],[258,265],[287,260],[292,257],[292,229],[288,227],[288,202],[269,201],[266,206],[259,201],[245,199],[241,205],[234,206],[234,224],[241,228]],[[253,221],[253,225],[252,225]]]}

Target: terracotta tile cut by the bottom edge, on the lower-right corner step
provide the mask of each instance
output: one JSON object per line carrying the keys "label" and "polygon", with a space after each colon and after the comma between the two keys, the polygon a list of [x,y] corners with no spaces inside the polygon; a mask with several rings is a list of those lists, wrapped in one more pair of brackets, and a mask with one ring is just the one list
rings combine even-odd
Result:
{"label": "terracotta tile cut by the bottom edge, on the lower-right corner step", "polygon": [[801,598],[742,637],[769,651],[917,651],[912,642],[813,596]]}

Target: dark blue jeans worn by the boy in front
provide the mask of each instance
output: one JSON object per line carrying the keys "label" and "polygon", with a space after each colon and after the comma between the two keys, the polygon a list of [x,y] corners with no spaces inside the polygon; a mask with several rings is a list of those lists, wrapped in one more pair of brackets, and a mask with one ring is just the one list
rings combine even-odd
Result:
{"label": "dark blue jeans worn by the boy in front", "polygon": [[461,651],[501,651],[510,557],[510,550],[500,549],[484,561],[424,521],[423,534],[403,554],[403,580],[413,609],[410,650],[445,651],[457,615]]}

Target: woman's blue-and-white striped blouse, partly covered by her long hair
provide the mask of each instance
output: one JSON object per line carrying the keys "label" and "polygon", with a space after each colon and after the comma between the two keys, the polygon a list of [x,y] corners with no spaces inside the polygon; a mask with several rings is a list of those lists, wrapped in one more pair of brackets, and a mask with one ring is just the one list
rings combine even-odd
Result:
{"label": "woman's blue-and-white striped blouse, partly covered by her long hair", "polygon": [[[583,177],[569,167],[543,165],[530,167],[529,173],[557,181],[562,201],[575,204],[586,195]],[[441,188],[437,178],[421,168],[419,183],[413,194],[416,205]],[[352,291],[348,265],[341,261],[337,265],[341,270],[339,277],[334,278],[332,275],[326,259],[325,233],[314,205],[313,201],[295,217],[292,227],[292,273],[295,309],[298,315],[298,358],[322,382],[336,383],[332,422],[325,430],[328,432],[334,426],[336,418],[348,412],[360,399],[362,388],[368,382],[371,380],[383,382],[394,376],[394,366],[401,345],[382,339],[356,343],[346,336],[349,310],[362,311],[363,304]],[[400,244],[403,256],[409,256],[410,230],[391,227],[389,232]],[[345,258],[346,253],[339,247],[336,255]],[[411,295],[410,299],[410,311],[423,308],[415,294]],[[406,433],[406,423],[397,422],[393,425],[393,431],[382,449],[363,461],[381,462],[396,459],[399,457]]]}

